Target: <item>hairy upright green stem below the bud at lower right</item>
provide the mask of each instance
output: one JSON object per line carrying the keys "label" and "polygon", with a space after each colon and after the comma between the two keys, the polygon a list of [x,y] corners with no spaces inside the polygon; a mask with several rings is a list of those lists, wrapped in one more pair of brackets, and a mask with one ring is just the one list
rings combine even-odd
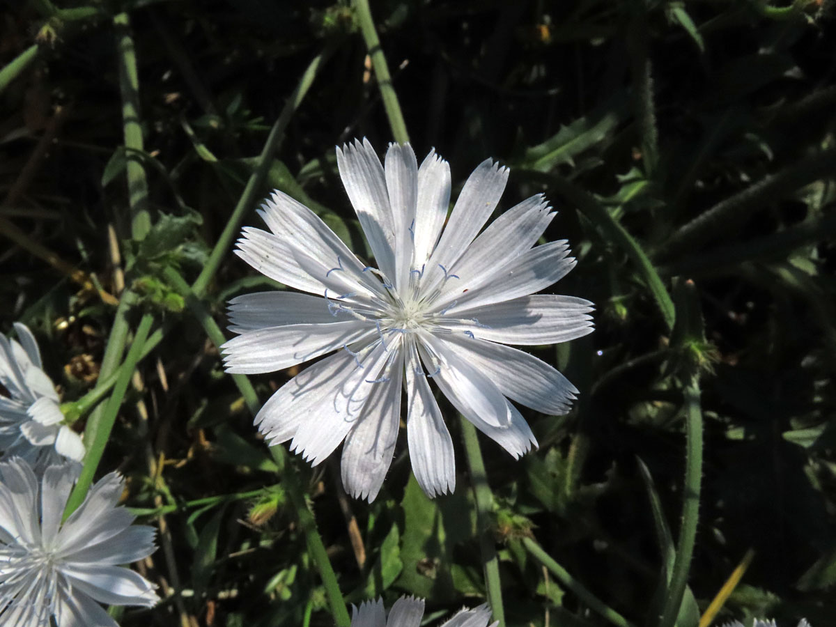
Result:
{"label": "hairy upright green stem below the bud at lower right", "polygon": [[682,527],[676,543],[676,558],[670,574],[670,587],[659,627],[673,627],[679,615],[682,597],[688,584],[691,557],[696,541],[696,527],[700,515],[700,488],[702,478],[702,410],[700,385],[693,375],[685,388],[686,409],[686,469],[685,491],[682,503]]}

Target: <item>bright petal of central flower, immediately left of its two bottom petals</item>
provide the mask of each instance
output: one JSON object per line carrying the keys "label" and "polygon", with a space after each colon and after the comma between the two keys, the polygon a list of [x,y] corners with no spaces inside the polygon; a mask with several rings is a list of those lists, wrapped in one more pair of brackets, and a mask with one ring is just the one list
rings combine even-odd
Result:
{"label": "bright petal of central flower, immediately left of its two bottom petals", "polygon": [[[390,351],[395,349],[390,343]],[[337,375],[338,385],[321,395],[317,411],[299,425],[290,450],[302,454],[312,466],[324,461],[357,424],[375,386],[386,385],[374,381],[389,359],[390,352],[378,341],[364,355],[362,367],[355,364]]]}

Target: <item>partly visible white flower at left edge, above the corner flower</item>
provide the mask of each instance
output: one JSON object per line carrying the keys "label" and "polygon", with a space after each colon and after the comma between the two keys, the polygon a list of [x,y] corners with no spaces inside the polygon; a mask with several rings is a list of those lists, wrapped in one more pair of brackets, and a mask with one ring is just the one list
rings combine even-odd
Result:
{"label": "partly visible white flower at left edge, above the corner flower", "polygon": [[19,342],[0,334],[0,384],[10,397],[0,396],[0,452],[3,459],[20,456],[36,472],[64,457],[79,461],[84,444],[61,425],[64,414],[46,373],[32,332],[16,322]]}

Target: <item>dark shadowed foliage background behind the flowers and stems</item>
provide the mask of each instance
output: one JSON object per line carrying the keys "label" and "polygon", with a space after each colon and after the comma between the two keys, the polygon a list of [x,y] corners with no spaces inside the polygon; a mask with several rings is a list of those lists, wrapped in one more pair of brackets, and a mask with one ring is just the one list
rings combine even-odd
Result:
{"label": "dark shadowed foliage background behind the flowers and stems", "polygon": [[[287,191],[364,254],[334,145],[366,136],[382,153],[391,132],[354,14],[342,4],[267,0],[90,8],[74,19],[48,2],[5,5],[0,62],[33,43],[38,54],[0,93],[0,217],[111,293],[124,271],[140,308],[169,329],[141,363],[143,382],[129,392],[100,466],[129,477],[127,502],[145,508],[143,520],[158,524],[150,512],[165,512],[161,543],[171,543],[142,568],[174,597],[126,611],[123,624],[333,624],[274,486],[276,466],[162,268],[196,278],[270,126],[324,49],[259,195]],[[162,225],[145,248],[130,241],[117,9],[130,13],[140,161]],[[579,260],[555,289],[597,305],[594,334],[533,350],[579,388],[573,411],[526,413],[540,448],[521,461],[482,441],[508,623],[605,624],[544,575],[523,548],[527,534],[631,622],[652,623],[658,523],[674,538],[680,525],[680,380],[696,366],[706,440],[689,579],[696,603],[705,610],[751,551],[716,621],[833,624],[830,3],[464,0],[377,2],[372,11],[419,158],[435,147],[454,186],[487,156],[503,161],[512,167],[503,208],[545,192],[559,211],[546,237],[568,238]],[[245,225],[261,226],[255,208]],[[29,324],[64,400],[74,400],[94,383],[114,308],[79,291],[6,224],[0,329]],[[677,344],[652,268],[665,288],[696,284],[706,342]],[[228,298],[269,283],[227,254],[206,306],[223,324]],[[254,378],[261,398],[295,371]],[[444,409],[458,447],[457,418]],[[339,457],[313,470],[293,459],[347,598],[382,594],[388,605],[419,594],[427,616],[482,602],[472,494],[457,452],[456,493],[431,502],[410,478],[401,434],[370,507],[341,492]]]}

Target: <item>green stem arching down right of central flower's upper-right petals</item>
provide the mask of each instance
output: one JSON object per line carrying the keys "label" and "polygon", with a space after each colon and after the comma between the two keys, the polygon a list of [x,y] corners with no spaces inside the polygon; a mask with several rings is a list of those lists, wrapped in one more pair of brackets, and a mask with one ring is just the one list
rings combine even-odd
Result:
{"label": "green stem arching down right of central flower's upper-right petals", "polygon": [[[517,174],[519,174],[519,171],[517,171]],[[665,288],[665,283],[662,282],[656,268],[653,267],[653,263],[650,263],[650,257],[645,254],[640,243],[635,241],[633,236],[621,226],[620,222],[612,217],[606,208],[588,191],[580,189],[563,176],[530,170],[523,171],[522,174],[534,181],[543,181],[551,186],[570,205],[577,206],[579,212],[589,218],[589,222],[599,227],[611,242],[617,243],[622,248],[627,257],[630,257],[630,261],[635,264],[642,278],[645,279],[645,283],[647,283],[647,287],[659,307],[662,318],[665,319],[668,330],[673,329],[676,319],[673,299],[670,298],[670,293]]]}

